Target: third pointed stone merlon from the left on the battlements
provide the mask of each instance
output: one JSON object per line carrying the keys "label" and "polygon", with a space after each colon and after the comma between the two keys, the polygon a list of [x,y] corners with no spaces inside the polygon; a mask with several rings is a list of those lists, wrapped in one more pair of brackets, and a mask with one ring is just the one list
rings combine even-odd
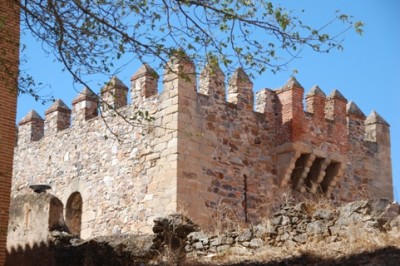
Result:
{"label": "third pointed stone merlon from the left on the battlements", "polygon": [[81,125],[86,120],[97,116],[99,98],[89,88],[83,88],[72,101],[72,126]]}

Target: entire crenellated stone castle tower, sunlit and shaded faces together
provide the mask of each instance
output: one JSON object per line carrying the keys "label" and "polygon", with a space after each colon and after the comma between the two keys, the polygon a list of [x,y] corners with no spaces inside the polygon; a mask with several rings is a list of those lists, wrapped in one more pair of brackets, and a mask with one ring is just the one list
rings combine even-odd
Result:
{"label": "entire crenellated stone castle tower, sunlit and shaded faces together", "polygon": [[[66,226],[83,239],[148,232],[155,217],[175,212],[204,228],[216,219],[253,223],[287,191],[393,199],[389,125],[375,111],[366,117],[338,90],[326,96],[317,86],[304,108],[294,77],[254,96],[242,69],[226,88],[223,72],[207,66],[197,88],[190,61],[169,66],[161,93],[143,65],[130,89],[117,77],[102,88],[106,103],[84,89],[72,110],[57,100],[45,119],[27,114],[12,197],[50,185]],[[9,245],[18,238],[8,237]]]}

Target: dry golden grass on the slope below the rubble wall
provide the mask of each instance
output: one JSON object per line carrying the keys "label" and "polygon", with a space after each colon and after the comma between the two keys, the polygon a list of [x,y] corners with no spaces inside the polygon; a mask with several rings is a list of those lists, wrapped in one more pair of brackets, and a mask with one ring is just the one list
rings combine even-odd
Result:
{"label": "dry golden grass on the slope below the rubble wall", "polygon": [[[279,205],[301,202],[296,199],[297,195],[293,195],[290,192],[283,193],[279,200]],[[337,210],[337,203],[324,197],[323,195],[316,194],[302,200],[307,204],[307,213],[312,214],[317,209],[327,209],[331,211]],[[276,203],[277,206],[278,203]],[[224,209],[221,209],[223,212]],[[221,214],[222,215],[222,214]],[[226,216],[220,216],[225,217]],[[269,218],[272,215],[269,213],[268,217],[262,219],[262,224],[267,225]],[[233,221],[231,221],[234,223]],[[223,232],[222,224],[217,226],[216,232]],[[248,228],[248,226],[246,226]],[[225,227],[226,228],[226,227]],[[236,230],[243,229],[242,226],[236,228]],[[330,240],[329,240],[330,239]],[[237,252],[237,249],[245,250],[244,247],[236,247],[228,249],[223,253],[212,254],[202,258],[199,258],[197,262],[201,262],[205,265],[261,265],[257,263],[274,265],[273,262],[289,261],[296,258],[315,259],[316,261],[329,261],[330,263],[335,261],[342,261],[343,258],[357,258],[365,256],[375,256],[374,254],[378,251],[386,250],[387,248],[394,248],[397,252],[396,256],[400,257],[400,229],[394,228],[390,231],[380,231],[378,229],[367,229],[360,225],[352,225],[347,228],[345,235],[332,240],[332,238],[326,238],[310,240],[303,245],[298,246],[282,246],[275,247],[271,245],[265,245],[259,249],[246,249],[249,254],[243,254],[246,252]],[[378,252],[379,253],[379,252]],[[357,257],[357,254],[358,255]],[[364,254],[366,254],[364,256]],[[372,255],[371,255],[372,254]],[[377,255],[376,255],[377,256]],[[382,254],[381,254],[382,256]],[[385,257],[385,255],[383,255]],[[289,265],[285,264],[285,265]],[[299,265],[299,264],[297,264]],[[303,265],[303,264],[300,264]],[[322,265],[316,263],[316,265]],[[332,265],[332,264],[330,264]],[[357,264],[354,264],[357,265]],[[372,264],[371,264],[372,265]],[[386,264],[381,264],[386,265]]]}

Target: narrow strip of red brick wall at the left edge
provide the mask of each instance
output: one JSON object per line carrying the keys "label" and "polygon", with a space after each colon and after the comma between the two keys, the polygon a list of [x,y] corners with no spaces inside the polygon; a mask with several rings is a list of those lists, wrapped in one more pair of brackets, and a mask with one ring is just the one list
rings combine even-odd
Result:
{"label": "narrow strip of red brick wall at the left edge", "polygon": [[5,260],[16,132],[19,15],[11,2],[0,1],[0,265]]}

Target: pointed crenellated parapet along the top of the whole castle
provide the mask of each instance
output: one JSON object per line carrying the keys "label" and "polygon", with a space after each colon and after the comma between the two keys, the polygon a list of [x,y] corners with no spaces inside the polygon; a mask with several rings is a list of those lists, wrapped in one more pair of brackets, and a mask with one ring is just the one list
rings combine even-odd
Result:
{"label": "pointed crenellated parapet along the top of the whole castle", "polygon": [[[360,129],[356,132],[363,132],[363,136],[358,136],[358,139],[376,141],[379,135],[376,132],[388,126],[376,112],[365,119],[357,105],[354,102],[348,103],[338,90],[333,90],[326,96],[321,88],[314,86],[305,95],[304,101],[304,88],[295,77],[291,77],[277,90],[258,91],[254,99],[253,83],[242,68],[238,68],[232,74],[226,88],[225,75],[218,64],[214,63],[206,65],[201,71],[197,90],[194,64],[187,57],[175,56],[165,69],[162,98],[158,94],[158,79],[154,69],[147,64],[142,65],[131,77],[130,105],[127,103],[128,87],[114,76],[101,89],[100,98],[90,89],[84,88],[72,101],[72,111],[62,100],[55,101],[45,112],[45,120],[35,111],[31,111],[20,122],[18,143],[38,141],[44,135],[65,130],[70,126],[80,126],[96,118],[99,99],[102,111],[124,106],[128,109],[131,106],[140,109],[151,99],[157,99],[151,100],[153,104],[164,106],[166,103],[163,102],[178,95],[178,91],[179,97],[185,98],[186,102],[176,100],[168,102],[168,105],[187,105],[187,99],[191,99],[190,104],[193,106],[198,102],[196,108],[204,104],[226,105],[235,108],[237,112],[263,113],[269,130],[272,129],[276,134],[277,146],[286,142],[303,142],[321,150],[345,154],[349,149],[349,138],[356,137],[350,128],[357,125]],[[201,97],[207,100],[198,101],[199,95],[206,95]],[[194,112],[196,108],[193,109]],[[166,109],[161,107],[159,110]]]}

